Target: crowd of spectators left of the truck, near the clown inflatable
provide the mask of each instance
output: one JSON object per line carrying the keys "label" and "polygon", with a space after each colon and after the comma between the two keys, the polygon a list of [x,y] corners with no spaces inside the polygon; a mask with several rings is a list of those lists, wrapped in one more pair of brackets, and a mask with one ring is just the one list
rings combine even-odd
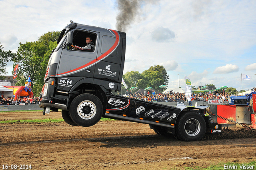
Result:
{"label": "crowd of spectators left of the truck, near the clown inflatable", "polygon": [[33,98],[30,97],[24,97],[24,98],[17,98],[17,100],[14,100],[14,98],[5,98],[2,95],[2,98],[0,99],[0,105],[19,105],[19,104],[38,104],[39,103],[39,97],[34,96]]}

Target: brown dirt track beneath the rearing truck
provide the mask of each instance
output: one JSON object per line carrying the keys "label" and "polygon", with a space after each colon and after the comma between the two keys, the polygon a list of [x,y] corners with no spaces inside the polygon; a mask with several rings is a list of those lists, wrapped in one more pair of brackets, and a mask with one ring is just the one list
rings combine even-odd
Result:
{"label": "brown dirt track beneath the rearing truck", "polygon": [[[61,113],[0,112],[0,120],[28,118],[61,118]],[[184,169],[256,160],[254,137],[183,142],[124,121],[88,128],[65,122],[0,124],[0,134],[1,166],[31,164],[38,170]]]}

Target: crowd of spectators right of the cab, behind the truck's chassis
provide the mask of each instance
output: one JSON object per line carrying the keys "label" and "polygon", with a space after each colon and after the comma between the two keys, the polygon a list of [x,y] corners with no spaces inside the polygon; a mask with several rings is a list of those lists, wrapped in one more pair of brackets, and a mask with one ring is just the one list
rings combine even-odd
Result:
{"label": "crowd of spectators right of the cab, behind the truck's chassis", "polygon": [[[147,93],[140,93],[140,94],[136,94],[136,93],[132,94],[131,92],[129,92],[127,97],[136,98],[139,100],[146,100],[148,102],[185,102],[186,101],[185,93],[174,93],[172,91],[164,94],[162,93],[154,94],[154,92],[152,93],[148,94],[147,92]],[[221,99],[226,101],[228,100],[228,96],[231,96],[231,95],[226,93],[224,90],[214,90],[214,91],[209,91],[205,93],[192,92],[191,100],[207,102],[208,100]]]}

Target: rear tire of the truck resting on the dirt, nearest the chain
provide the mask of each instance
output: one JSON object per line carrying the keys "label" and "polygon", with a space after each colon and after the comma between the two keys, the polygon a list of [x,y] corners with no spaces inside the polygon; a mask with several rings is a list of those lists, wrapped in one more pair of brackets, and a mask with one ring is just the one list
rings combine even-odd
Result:
{"label": "rear tire of the truck resting on the dirt, nearest the chain", "polygon": [[196,112],[184,112],[176,122],[175,134],[180,140],[200,140],[205,132],[205,120]]}

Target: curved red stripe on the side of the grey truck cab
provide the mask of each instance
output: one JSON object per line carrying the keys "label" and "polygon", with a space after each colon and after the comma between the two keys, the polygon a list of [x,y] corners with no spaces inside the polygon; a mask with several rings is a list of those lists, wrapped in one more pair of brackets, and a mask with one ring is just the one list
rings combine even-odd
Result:
{"label": "curved red stripe on the side of the grey truck cab", "polygon": [[115,30],[112,30],[112,31],[113,31],[114,34],[116,35],[116,41],[115,41],[114,45],[113,45],[107,52],[105,52],[104,54],[102,54],[101,56],[99,56],[98,58],[96,58],[95,60],[92,60],[91,62],[88,62],[87,64],[84,64],[83,66],[80,66],[80,67],[75,68],[75,69],[73,69],[73,70],[70,70],[70,71],[68,71],[68,72],[64,72],[64,73],[60,73],[60,74],[56,74],[56,75],[52,75],[52,76],[58,76],[58,75],[66,74],[66,73],[75,72],[75,71],[77,71],[77,70],[80,70],[80,69],[82,69],[82,68],[85,68],[85,67],[87,67],[87,66],[90,66],[90,65],[96,63],[97,60],[101,60],[102,58],[106,57],[108,54],[110,54],[110,53],[116,48],[116,46],[118,45],[118,42],[119,42],[119,35],[118,35],[118,33],[117,33]]}

